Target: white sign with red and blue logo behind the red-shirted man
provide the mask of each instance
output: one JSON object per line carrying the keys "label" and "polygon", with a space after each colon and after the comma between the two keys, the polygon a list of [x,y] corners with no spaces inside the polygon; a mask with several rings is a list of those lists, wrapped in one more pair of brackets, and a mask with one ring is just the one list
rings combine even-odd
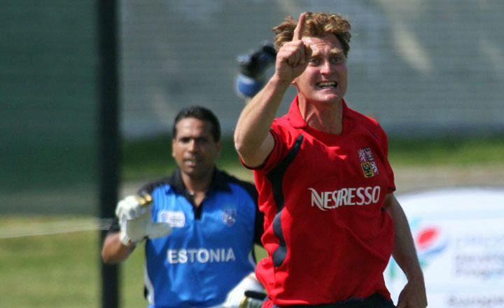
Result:
{"label": "white sign with red and blue logo behind the red-shirted man", "polygon": [[[504,308],[504,190],[459,188],[398,196],[426,281],[428,306]],[[394,303],[406,278],[384,273]]]}

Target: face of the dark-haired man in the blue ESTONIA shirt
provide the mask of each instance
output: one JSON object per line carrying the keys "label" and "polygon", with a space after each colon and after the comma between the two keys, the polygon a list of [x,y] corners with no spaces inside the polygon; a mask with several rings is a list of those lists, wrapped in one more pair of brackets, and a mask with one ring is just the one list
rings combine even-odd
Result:
{"label": "face of the dark-haired man in the blue ESTONIA shirt", "polygon": [[221,154],[221,141],[211,134],[211,123],[197,118],[183,118],[176,125],[172,156],[182,174],[200,179],[211,174]]}

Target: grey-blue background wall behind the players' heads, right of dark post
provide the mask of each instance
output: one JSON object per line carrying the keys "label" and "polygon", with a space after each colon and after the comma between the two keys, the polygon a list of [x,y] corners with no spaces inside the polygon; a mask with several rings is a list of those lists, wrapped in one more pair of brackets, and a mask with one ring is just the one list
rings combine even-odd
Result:
{"label": "grey-blue background wall behind the players' heads, right of dark post", "polygon": [[503,1],[130,0],[121,8],[123,132],[168,132],[189,104],[210,106],[231,132],[243,106],[236,56],[306,10],[349,18],[346,100],[389,134],[504,129]]}

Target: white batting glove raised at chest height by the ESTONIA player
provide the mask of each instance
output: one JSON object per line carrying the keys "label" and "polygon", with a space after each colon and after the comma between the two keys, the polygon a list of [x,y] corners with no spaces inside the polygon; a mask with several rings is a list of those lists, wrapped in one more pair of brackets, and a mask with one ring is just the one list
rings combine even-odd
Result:
{"label": "white batting glove raised at chest height by the ESTONIA player", "polygon": [[152,220],[152,196],[130,195],[118,202],[116,216],[120,225],[120,241],[126,246],[137,244],[145,237],[155,239],[172,232],[168,223],[154,223]]}

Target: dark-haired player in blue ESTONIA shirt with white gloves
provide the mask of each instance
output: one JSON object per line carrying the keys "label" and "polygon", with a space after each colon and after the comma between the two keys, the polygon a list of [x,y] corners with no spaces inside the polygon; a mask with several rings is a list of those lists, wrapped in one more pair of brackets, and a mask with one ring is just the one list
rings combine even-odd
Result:
{"label": "dark-haired player in blue ESTONIA shirt with white gloves", "polygon": [[263,230],[257,191],[216,168],[221,146],[214,113],[183,109],[173,126],[176,170],[118,202],[102,258],[122,262],[146,239],[150,308],[238,307],[246,291],[263,290],[254,275]]}

